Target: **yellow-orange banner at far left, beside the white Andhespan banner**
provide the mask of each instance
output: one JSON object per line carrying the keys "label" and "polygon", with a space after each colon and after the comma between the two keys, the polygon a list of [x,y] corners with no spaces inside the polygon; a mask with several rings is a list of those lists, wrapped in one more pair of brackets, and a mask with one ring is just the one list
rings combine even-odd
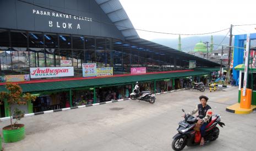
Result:
{"label": "yellow-orange banner at far left, beside the white Andhespan banner", "polygon": [[1,75],[0,82],[25,82],[29,81],[29,74]]}

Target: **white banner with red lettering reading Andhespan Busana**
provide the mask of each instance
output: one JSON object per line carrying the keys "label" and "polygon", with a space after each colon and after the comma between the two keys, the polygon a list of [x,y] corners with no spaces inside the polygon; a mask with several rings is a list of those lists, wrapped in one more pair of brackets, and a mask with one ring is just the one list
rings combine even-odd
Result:
{"label": "white banner with red lettering reading Andhespan Busana", "polygon": [[30,78],[50,78],[74,76],[74,67],[30,68]]}

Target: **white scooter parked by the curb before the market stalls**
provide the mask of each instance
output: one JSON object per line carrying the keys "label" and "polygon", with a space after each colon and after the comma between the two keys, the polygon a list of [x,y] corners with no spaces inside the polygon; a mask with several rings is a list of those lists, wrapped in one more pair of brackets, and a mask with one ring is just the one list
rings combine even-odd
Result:
{"label": "white scooter parked by the curb before the market stalls", "polygon": [[150,91],[141,91],[138,89],[133,89],[133,92],[130,94],[130,99],[132,100],[141,100],[149,103],[155,103],[156,97],[155,94],[152,94]]}

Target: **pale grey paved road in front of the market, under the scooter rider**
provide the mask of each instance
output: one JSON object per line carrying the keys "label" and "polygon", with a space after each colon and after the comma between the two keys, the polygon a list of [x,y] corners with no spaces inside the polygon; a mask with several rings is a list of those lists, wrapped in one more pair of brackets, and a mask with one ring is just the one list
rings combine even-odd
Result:
{"label": "pale grey paved road in front of the market, under the scooter rider", "polygon": [[[216,92],[183,90],[157,95],[156,103],[126,100],[21,119],[26,137],[3,143],[5,150],[172,150],[172,137],[182,120],[181,108],[189,112],[208,96],[213,112],[221,114],[220,136],[204,147],[184,150],[256,150],[256,113],[226,112],[237,102],[238,88]],[[0,126],[6,126],[3,121]],[[1,132],[2,133],[2,132]]]}

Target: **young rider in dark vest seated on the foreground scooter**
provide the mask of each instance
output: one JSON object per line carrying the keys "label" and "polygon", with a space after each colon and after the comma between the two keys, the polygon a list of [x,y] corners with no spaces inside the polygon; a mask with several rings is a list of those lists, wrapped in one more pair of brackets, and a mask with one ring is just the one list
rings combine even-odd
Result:
{"label": "young rider in dark vest seated on the foreground scooter", "polygon": [[[203,96],[203,95],[200,96],[199,97],[200,104],[195,106],[192,112],[187,113],[188,115],[194,115],[197,112],[199,114],[197,117],[197,120],[198,120],[197,124],[200,127],[200,133],[201,133],[200,146],[204,145],[205,128],[211,121],[211,115],[213,114],[213,112],[211,111],[211,107],[208,104],[206,104],[208,99],[209,98],[206,96]],[[183,115],[183,117],[184,116],[185,115]]]}

